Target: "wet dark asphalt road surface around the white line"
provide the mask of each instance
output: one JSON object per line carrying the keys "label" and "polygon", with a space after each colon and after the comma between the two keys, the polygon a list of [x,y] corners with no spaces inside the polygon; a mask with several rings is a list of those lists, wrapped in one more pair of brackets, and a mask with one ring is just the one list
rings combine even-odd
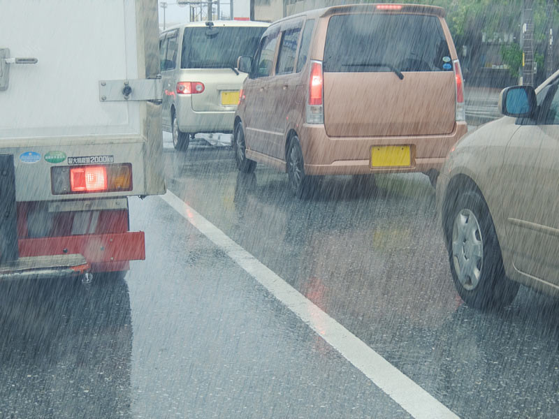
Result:
{"label": "wet dark asphalt road surface around the white line", "polygon": [[[465,307],[427,177],[327,177],[300,201],[226,147],[165,162],[170,191],[460,418],[559,416],[558,302]],[[126,281],[1,284],[0,418],[410,417],[161,198],[130,207],[147,259]]]}

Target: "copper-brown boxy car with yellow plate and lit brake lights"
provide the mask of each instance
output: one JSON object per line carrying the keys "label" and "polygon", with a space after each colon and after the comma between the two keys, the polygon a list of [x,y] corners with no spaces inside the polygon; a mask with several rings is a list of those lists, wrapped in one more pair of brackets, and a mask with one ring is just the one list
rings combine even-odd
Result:
{"label": "copper-brown boxy car with yellow plate and lit brake lights", "polygon": [[296,196],[314,175],[424,172],[435,183],[467,131],[463,78],[444,10],[333,6],[264,32],[235,114],[239,170],[284,170]]}

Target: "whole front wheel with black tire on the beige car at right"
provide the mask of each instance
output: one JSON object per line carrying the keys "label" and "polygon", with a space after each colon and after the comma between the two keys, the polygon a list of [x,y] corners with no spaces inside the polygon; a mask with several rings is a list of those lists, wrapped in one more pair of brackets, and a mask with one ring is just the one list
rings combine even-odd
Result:
{"label": "whole front wheel with black tire on the beige car at right", "polygon": [[507,306],[519,284],[507,279],[493,219],[477,191],[460,193],[445,222],[452,279],[464,302],[477,309]]}

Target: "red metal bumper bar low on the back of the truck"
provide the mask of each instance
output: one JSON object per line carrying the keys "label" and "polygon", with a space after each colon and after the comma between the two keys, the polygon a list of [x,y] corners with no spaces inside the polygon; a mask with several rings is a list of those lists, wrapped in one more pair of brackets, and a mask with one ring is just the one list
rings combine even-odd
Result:
{"label": "red metal bumper bar low on the back of the truck", "polygon": [[20,239],[18,247],[20,257],[81,254],[92,265],[145,259],[143,231]]}

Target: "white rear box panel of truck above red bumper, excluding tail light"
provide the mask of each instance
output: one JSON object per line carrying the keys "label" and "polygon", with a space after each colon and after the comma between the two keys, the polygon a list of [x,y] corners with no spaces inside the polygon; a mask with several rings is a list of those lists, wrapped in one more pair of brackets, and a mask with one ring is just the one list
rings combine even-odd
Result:
{"label": "white rear box panel of truck above red bumper, excluding tail light", "polygon": [[[18,202],[164,193],[157,20],[156,0],[2,2],[0,154]],[[58,166],[117,163],[128,190],[55,190]]]}

